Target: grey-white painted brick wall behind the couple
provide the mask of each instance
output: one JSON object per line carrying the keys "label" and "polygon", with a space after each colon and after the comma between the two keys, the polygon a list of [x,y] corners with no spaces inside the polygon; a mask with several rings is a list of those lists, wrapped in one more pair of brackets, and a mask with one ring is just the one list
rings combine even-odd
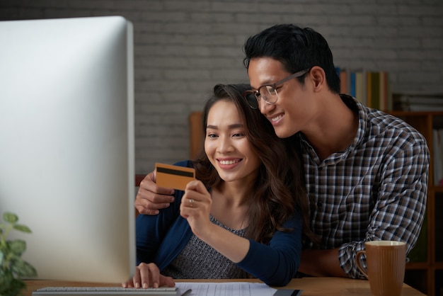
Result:
{"label": "grey-white painted brick wall behind the couple", "polygon": [[0,20],[107,15],[134,23],[137,173],[188,158],[188,114],[248,82],[243,42],[275,23],[318,30],[336,66],[386,70],[394,92],[443,93],[442,0],[0,0]]}

